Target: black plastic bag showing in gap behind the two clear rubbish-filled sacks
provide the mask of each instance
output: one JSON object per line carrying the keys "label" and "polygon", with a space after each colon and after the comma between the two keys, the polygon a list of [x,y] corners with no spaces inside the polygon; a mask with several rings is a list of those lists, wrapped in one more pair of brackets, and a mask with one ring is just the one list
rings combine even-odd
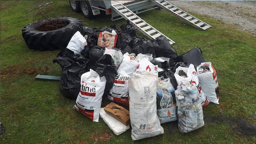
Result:
{"label": "black plastic bag showing in gap behind the two clear rubbish-filled sacks", "polygon": [[167,61],[162,62],[161,63],[162,69],[164,69],[164,71],[159,71],[158,72],[158,77],[162,77],[164,76],[165,79],[170,78],[171,84],[174,87],[174,89],[177,89],[177,81],[175,79],[174,73],[173,71],[170,70],[170,65],[167,63]]}

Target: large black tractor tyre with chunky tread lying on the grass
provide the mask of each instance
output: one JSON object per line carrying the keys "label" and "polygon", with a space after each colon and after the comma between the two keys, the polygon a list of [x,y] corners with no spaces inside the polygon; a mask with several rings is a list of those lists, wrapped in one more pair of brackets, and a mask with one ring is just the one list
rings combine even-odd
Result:
{"label": "large black tractor tyre with chunky tread lying on the grass", "polygon": [[[58,18],[58,17],[57,17]],[[65,49],[71,37],[82,30],[82,21],[78,18],[61,17],[63,20],[69,22],[65,27],[53,31],[38,31],[33,24],[30,23],[22,29],[22,37],[25,40],[29,49],[35,50],[55,50]]]}

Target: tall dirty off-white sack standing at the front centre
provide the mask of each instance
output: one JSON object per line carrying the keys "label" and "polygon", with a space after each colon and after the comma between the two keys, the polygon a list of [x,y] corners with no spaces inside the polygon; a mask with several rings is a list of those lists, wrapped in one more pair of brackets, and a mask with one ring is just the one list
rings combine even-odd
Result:
{"label": "tall dirty off-white sack standing at the front centre", "polygon": [[164,133],[156,114],[158,75],[147,71],[133,73],[129,80],[129,110],[132,140]]}

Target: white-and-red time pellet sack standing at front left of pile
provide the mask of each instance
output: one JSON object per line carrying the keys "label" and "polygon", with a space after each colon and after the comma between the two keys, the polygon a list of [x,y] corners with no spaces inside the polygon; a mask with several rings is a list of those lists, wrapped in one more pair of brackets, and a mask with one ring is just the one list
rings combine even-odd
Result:
{"label": "white-and-red time pellet sack standing at front left of pile", "polygon": [[105,76],[100,77],[96,71],[90,69],[81,76],[81,89],[74,109],[90,118],[94,122],[98,122],[101,100],[106,86]]}

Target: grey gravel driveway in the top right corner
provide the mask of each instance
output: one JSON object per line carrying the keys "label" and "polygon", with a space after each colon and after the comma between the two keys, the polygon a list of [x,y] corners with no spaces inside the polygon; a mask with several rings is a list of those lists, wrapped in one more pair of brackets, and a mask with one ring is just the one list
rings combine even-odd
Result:
{"label": "grey gravel driveway in the top right corner", "polygon": [[169,1],[184,11],[210,16],[256,33],[256,1]]}

